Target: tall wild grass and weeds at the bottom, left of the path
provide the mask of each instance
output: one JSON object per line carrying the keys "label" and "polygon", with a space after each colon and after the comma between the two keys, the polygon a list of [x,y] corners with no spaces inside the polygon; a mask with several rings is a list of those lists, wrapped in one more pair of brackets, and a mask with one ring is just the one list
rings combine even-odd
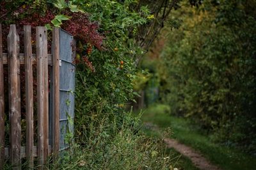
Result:
{"label": "tall wild grass and weeds at the bottom, left of the path", "polygon": [[[90,127],[88,139],[71,143],[56,164],[49,169],[173,169],[175,157],[163,149],[160,139],[152,139],[138,131],[139,118],[127,113],[121,127],[109,125],[108,119]],[[93,121],[95,122],[95,121]],[[115,121],[114,121],[115,122]],[[6,164],[6,169],[12,167]],[[22,169],[28,169],[26,164]],[[35,167],[38,169],[38,167]]]}

